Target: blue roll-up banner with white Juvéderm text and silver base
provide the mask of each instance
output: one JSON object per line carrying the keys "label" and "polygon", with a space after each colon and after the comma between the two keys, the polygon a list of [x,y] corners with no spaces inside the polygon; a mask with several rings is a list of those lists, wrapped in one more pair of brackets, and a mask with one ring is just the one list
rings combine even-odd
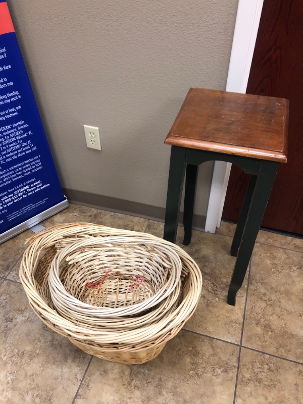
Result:
{"label": "blue roll-up banner with white Juv\u00e9derm text and silver base", "polygon": [[9,9],[0,0],[0,243],[67,207]]}

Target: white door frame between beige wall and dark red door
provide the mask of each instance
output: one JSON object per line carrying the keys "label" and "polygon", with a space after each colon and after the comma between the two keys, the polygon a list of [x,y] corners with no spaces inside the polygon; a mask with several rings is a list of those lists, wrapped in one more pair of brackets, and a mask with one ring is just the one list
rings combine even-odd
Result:
{"label": "white door frame between beige wall and dark red door", "polygon": [[[226,91],[245,93],[254,54],[263,0],[239,0]],[[231,163],[214,165],[205,231],[220,227]]]}

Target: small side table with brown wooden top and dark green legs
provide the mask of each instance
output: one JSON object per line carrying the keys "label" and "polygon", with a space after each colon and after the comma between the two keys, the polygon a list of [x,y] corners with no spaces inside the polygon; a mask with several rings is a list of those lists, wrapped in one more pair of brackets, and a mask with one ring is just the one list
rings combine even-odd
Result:
{"label": "small side table with brown wooden top and dark green legs", "polygon": [[191,239],[197,168],[210,160],[250,174],[233,237],[237,257],[227,301],[235,305],[279,163],[287,161],[288,100],[191,88],[166,137],[171,144],[164,239],[175,242],[185,180],[184,244]]}

